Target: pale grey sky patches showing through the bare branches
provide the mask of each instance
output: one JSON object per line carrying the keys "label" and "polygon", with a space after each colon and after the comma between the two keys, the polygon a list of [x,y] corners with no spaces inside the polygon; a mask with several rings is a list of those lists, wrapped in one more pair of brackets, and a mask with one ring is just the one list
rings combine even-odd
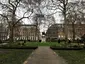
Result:
{"label": "pale grey sky patches showing through the bare branches", "polygon": [[[69,2],[73,2],[73,1],[77,1],[77,0],[69,0]],[[81,0],[78,0],[78,1],[81,1]],[[6,3],[7,2],[7,0],[0,0],[0,2],[3,2],[3,3]],[[18,16],[23,16],[23,12],[25,12],[25,10],[24,9],[22,9],[22,10],[20,10],[20,9],[18,9],[18,11],[16,12],[17,13],[17,15]],[[51,12],[55,12],[55,11],[49,11],[49,10],[47,10],[46,8],[42,8],[42,13],[44,13],[44,14],[49,14],[49,13],[51,13]],[[0,12],[1,13],[1,12]],[[56,23],[62,23],[62,21],[61,21],[61,17],[59,16],[60,15],[60,13],[59,12],[56,12],[53,16],[55,17],[55,20],[56,20]],[[30,24],[30,22],[32,22],[32,20],[31,19],[23,19],[23,21],[24,21],[24,23],[28,23],[28,24]],[[30,21],[30,22],[28,22],[28,21]],[[42,25],[41,26],[41,29],[42,28],[44,28],[44,25]],[[45,30],[45,28],[44,28],[44,30]],[[41,30],[41,31],[43,31],[43,29]]]}

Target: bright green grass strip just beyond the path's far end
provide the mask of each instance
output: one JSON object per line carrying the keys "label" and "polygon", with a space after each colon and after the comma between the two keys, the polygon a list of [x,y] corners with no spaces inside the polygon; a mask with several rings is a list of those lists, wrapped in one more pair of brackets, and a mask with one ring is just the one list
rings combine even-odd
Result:
{"label": "bright green grass strip just beyond the path's far end", "polygon": [[27,42],[26,46],[60,46],[57,42]]}

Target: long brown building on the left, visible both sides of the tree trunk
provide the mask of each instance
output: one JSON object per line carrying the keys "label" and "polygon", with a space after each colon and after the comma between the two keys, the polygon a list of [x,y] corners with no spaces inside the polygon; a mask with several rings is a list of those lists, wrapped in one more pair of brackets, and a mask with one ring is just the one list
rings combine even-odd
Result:
{"label": "long brown building on the left, visible both sides of the tree trunk", "polygon": [[[0,40],[7,40],[10,37],[10,30],[0,23]],[[13,29],[14,40],[40,40],[40,32],[36,28],[36,25],[17,25]]]}

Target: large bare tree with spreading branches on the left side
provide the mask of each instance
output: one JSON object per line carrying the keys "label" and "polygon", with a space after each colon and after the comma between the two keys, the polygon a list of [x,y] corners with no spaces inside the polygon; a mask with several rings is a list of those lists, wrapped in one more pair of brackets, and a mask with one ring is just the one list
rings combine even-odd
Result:
{"label": "large bare tree with spreading branches on the left side", "polygon": [[[21,18],[19,18],[17,15],[17,11],[19,11],[19,8],[22,8],[21,5],[23,5],[22,0],[7,0],[6,3],[0,2],[0,6],[2,7],[2,14],[0,14],[2,17],[4,17],[7,20],[9,30],[10,30],[10,41],[13,42],[14,40],[14,28],[15,26],[24,18],[29,18],[29,16],[25,16],[26,12],[23,14]],[[29,11],[30,12],[30,11]]]}

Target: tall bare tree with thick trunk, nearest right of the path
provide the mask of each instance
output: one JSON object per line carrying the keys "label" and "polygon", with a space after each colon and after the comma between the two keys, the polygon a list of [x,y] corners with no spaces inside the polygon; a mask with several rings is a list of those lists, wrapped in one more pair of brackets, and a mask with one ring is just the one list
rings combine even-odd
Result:
{"label": "tall bare tree with thick trunk, nearest right of the path", "polygon": [[48,10],[55,11],[52,14],[55,14],[59,11],[61,11],[63,18],[64,18],[64,23],[65,23],[65,39],[67,40],[67,21],[66,21],[66,16],[67,16],[67,11],[68,11],[68,0],[48,0],[48,5],[46,6]]}

